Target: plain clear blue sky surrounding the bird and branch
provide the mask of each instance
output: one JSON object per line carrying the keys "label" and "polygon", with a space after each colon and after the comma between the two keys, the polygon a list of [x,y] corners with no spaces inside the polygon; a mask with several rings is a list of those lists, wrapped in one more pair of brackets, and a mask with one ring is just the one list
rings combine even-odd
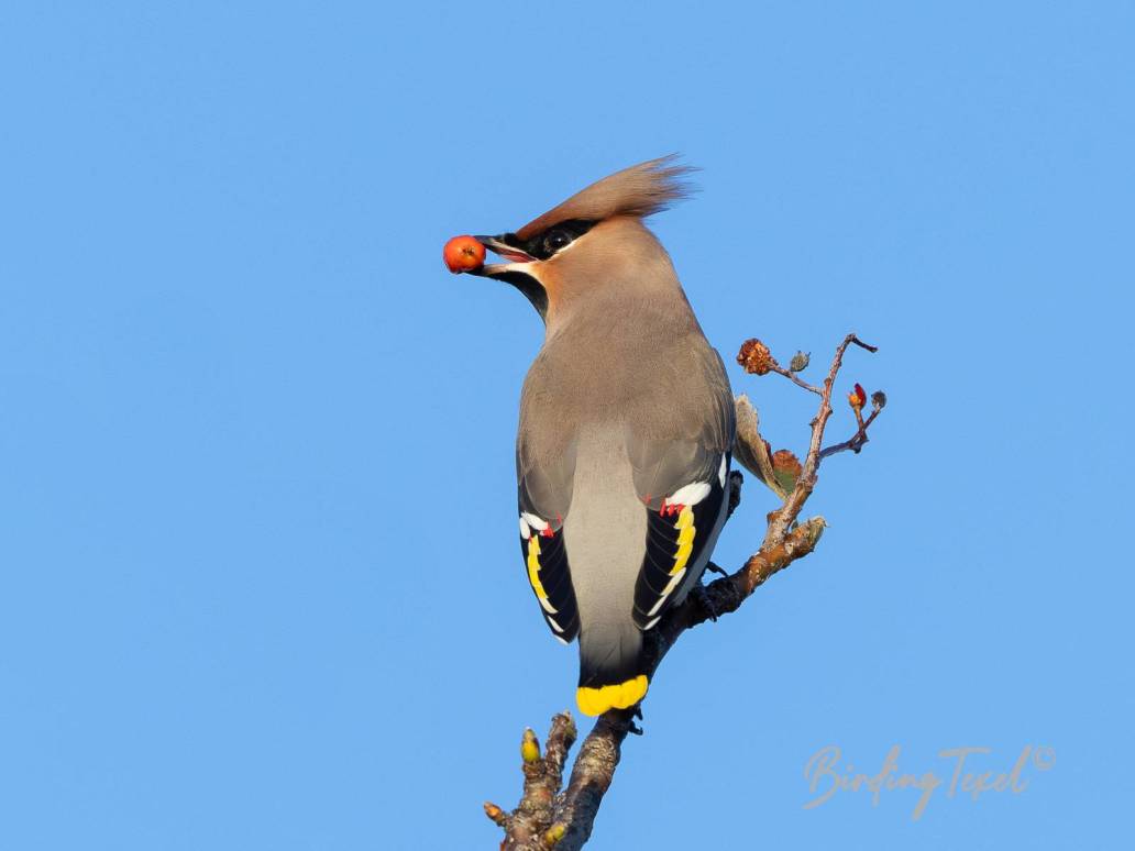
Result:
{"label": "plain clear blue sky surrounding the bird and branch", "polygon": [[[891,403],[819,549],[661,669],[595,849],[1119,844],[1129,3],[8,3],[0,845],[495,848],[571,706],[518,557],[541,329],[444,241],[680,151],[711,340]],[[734,389],[775,447],[810,401]],[[849,433],[840,411],[833,436]],[[718,546],[737,565],[771,498]],[[1043,745],[1019,794],[815,809]]]}

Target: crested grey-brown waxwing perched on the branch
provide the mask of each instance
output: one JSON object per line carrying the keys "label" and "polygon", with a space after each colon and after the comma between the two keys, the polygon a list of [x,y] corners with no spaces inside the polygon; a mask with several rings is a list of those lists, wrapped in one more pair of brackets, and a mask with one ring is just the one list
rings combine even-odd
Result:
{"label": "crested grey-brown waxwing perched on the branch", "polygon": [[579,640],[591,716],[646,696],[645,637],[700,585],[728,516],[729,378],[645,224],[689,195],[690,171],[673,154],[616,171],[472,237],[504,262],[461,270],[512,285],[544,321],[520,398],[521,556],[548,630]]}

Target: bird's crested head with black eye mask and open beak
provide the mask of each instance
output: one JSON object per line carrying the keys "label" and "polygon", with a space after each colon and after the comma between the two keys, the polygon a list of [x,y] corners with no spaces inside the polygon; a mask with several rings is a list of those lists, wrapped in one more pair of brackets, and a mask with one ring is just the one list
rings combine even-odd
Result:
{"label": "bird's crested head with black eye mask and open beak", "polygon": [[690,170],[664,157],[616,171],[513,233],[472,237],[504,262],[449,268],[513,285],[545,321],[612,287],[676,287],[642,219],[687,196],[681,178]]}

